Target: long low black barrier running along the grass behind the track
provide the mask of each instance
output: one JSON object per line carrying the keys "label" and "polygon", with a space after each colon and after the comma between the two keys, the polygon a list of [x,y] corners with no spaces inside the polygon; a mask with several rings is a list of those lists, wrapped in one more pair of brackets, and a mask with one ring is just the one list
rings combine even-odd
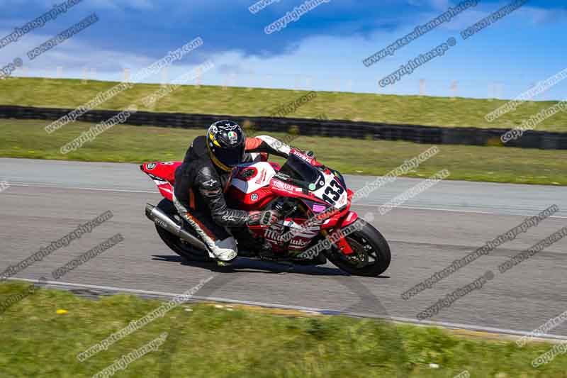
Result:
{"label": "long low black barrier running along the grass behind the track", "polygon": [[[40,119],[55,121],[73,109],[35,108],[30,106],[0,105],[0,118]],[[120,111],[92,110],[79,121],[98,123],[116,116]],[[258,131],[293,132],[301,135],[337,136],[355,139],[408,140],[415,143],[453,145],[503,145],[500,135],[507,129],[498,128],[441,128],[436,126],[393,125],[388,123],[321,121],[309,118],[272,118],[225,116],[213,114],[153,113],[138,111],[125,122],[137,126],[172,128],[206,128],[210,123],[232,119]],[[47,122],[45,123],[47,126]],[[510,140],[506,147],[567,150],[567,133],[548,133],[529,130],[522,138]]]}

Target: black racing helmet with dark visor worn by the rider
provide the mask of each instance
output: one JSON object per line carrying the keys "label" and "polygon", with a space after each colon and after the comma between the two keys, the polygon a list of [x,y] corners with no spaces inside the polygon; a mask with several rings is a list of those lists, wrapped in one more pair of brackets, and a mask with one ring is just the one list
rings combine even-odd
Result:
{"label": "black racing helmet with dark visor worn by the rider", "polygon": [[244,160],[246,136],[238,123],[217,121],[207,130],[207,149],[210,160],[223,171],[232,168]]}

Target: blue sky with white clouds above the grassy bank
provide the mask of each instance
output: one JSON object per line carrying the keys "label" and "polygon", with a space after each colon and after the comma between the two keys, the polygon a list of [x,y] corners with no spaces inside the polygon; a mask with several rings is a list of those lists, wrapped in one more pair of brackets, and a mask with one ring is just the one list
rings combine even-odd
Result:
{"label": "blue sky with white clouds above the grassy bank", "polygon": [[[64,0],[0,0],[0,38],[14,27]],[[305,0],[303,0],[305,1]],[[531,0],[521,9],[468,40],[459,32],[512,0],[480,0],[450,23],[406,45],[391,57],[365,67],[362,60],[447,11],[449,0],[330,0],[279,32],[264,27],[303,4],[279,0],[259,13],[254,0],[83,0],[67,13],[0,49],[0,63],[24,61],[18,76],[81,78],[84,70],[96,79],[120,80],[123,70],[150,65],[197,36],[203,46],[167,70],[174,79],[205,60],[215,69],[203,84],[252,87],[512,98],[541,79],[567,68],[567,5],[558,0]],[[100,21],[62,45],[29,61],[26,52],[96,12]],[[378,80],[401,64],[431,50],[449,37],[457,45],[444,56],[418,68],[385,89]],[[162,75],[147,79],[161,82]],[[567,80],[538,99],[563,99]]]}

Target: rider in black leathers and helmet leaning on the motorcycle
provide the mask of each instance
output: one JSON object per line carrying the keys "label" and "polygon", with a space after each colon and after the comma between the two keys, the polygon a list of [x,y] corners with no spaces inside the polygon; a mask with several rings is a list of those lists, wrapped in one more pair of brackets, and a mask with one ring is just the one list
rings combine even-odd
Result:
{"label": "rider in black leathers and helmet leaning on the motorcycle", "polygon": [[242,162],[252,162],[260,153],[288,157],[291,148],[275,138],[260,135],[246,138],[233,121],[210,125],[206,135],[198,136],[187,150],[183,164],[175,171],[173,202],[189,226],[220,262],[232,262],[237,243],[229,227],[245,225],[271,226],[276,211],[230,209],[225,190],[230,185],[232,169]]}

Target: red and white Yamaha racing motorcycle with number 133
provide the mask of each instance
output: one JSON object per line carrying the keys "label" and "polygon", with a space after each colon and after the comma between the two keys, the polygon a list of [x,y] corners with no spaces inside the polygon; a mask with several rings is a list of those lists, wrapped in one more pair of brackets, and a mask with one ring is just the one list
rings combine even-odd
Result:
{"label": "red and white Yamaha racing motorcycle with number 133", "polygon": [[[164,243],[187,260],[213,261],[208,247],[176,211],[172,202],[175,169],[181,162],[140,165],[164,196],[147,204],[147,218]],[[313,152],[291,149],[283,165],[260,161],[238,165],[225,198],[228,206],[246,211],[275,209],[281,218],[269,227],[231,228],[238,256],[297,265],[323,265],[330,260],[353,275],[376,277],[388,269],[388,242],[371,223],[350,210],[353,191],[342,174],[322,165]]]}

